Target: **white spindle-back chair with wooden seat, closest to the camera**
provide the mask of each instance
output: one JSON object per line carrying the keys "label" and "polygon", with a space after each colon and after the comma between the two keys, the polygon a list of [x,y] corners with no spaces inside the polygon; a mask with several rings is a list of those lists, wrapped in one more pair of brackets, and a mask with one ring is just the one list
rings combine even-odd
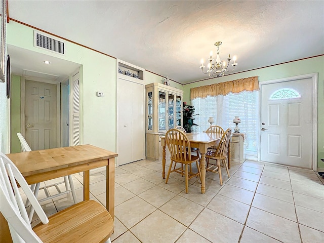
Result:
{"label": "white spindle-back chair with wooden seat, closest to the camera", "polygon": [[[41,220],[33,228],[17,182]],[[103,205],[86,200],[48,218],[18,168],[3,153],[0,153],[0,199],[0,212],[8,222],[14,243],[111,242],[113,219]]]}

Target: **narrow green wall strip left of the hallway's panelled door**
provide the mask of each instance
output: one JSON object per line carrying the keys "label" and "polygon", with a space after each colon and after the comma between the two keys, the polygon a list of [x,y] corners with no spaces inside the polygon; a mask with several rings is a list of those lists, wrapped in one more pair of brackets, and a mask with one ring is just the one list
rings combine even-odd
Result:
{"label": "narrow green wall strip left of the hallway's panelled door", "polygon": [[20,76],[11,76],[10,100],[11,152],[19,153],[21,146],[17,133],[20,133]]}

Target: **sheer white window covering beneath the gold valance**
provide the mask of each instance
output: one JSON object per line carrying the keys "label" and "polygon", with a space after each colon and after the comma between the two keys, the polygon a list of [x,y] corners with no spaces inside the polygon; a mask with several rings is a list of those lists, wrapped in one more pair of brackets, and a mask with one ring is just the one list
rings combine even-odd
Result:
{"label": "sheer white window covering beneath the gold valance", "polygon": [[215,124],[224,130],[234,130],[233,118],[238,115],[241,123],[238,124],[241,133],[246,134],[247,155],[257,156],[259,146],[259,92],[229,93],[226,96],[208,96],[191,100],[195,108],[195,132],[203,132],[210,126],[208,119],[214,117]]}

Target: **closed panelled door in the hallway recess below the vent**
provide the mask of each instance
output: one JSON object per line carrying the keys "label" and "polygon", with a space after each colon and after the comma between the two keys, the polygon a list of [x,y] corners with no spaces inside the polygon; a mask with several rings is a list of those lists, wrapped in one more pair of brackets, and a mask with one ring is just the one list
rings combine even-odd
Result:
{"label": "closed panelled door in the hallway recess below the vent", "polygon": [[57,86],[25,81],[25,138],[32,150],[57,147]]}

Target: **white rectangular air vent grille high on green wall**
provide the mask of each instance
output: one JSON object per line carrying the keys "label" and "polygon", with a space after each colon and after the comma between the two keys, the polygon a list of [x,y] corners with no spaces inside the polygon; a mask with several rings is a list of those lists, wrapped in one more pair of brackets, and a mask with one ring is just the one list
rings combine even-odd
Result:
{"label": "white rectangular air vent grille high on green wall", "polygon": [[51,52],[65,54],[65,43],[53,36],[34,31],[34,47],[46,49]]}

